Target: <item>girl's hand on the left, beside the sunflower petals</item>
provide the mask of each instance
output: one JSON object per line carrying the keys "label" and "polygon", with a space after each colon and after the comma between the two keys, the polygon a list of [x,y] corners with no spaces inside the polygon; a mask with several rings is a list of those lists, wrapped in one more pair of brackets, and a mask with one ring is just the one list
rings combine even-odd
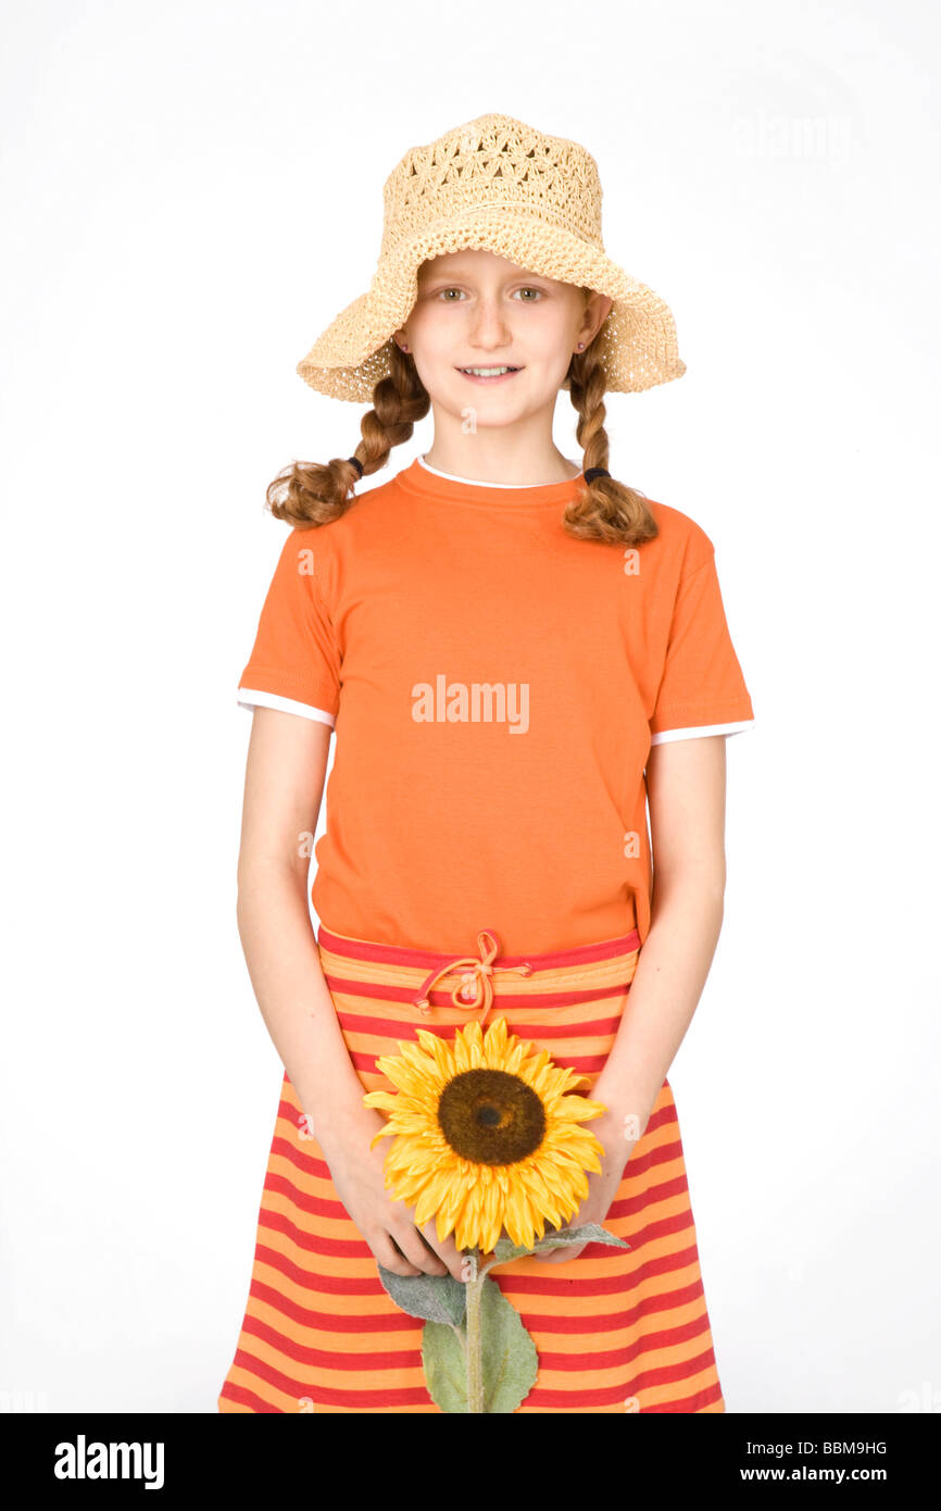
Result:
{"label": "girl's hand on the left, beside the sunflower petals", "polygon": [[385,1123],[376,1108],[356,1108],[335,1124],[323,1123],[314,1130],[337,1195],[384,1269],[394,1275],[450,1272],[461,1280],[464,1256],[453,1233],[440,1239],[433,1218],[423,1228],[415,1227],[412,1207],[394,1201],[385,1186],[388,1141],[369,1147]]}

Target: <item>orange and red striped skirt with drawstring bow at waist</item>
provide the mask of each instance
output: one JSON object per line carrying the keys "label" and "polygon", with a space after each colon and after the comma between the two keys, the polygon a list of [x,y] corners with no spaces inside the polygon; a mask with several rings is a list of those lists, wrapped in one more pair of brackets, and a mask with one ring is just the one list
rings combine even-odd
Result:
{"label": "orange and red striped skirt with drawstring bow at waist", "polygon": [[[414,1040],[418,1027],[453,1038],[479,1015],[452,1000],[452,991],[468,990],[461,988],[461,963],[438,976],[424,1012],[415,1005],[429,973],[453,956],[352,940],[323,926],[317,949],[366,1091],[396,1089],[376,1071],[376,1056],[399,1055],[400,1040]],[[577,1091],[591,1095],[637,958],[636,932],[550,955],[495,955],[483,1027],[504,1017],[509,1032],[585,1076]],[[532,972],[511,973],[524,959]],[[562,1263],[526,1257],[491,1271],[539,1357],[536,1383],[517,1410],[725,1411],[668,1080],[604,1227],[630,1248],[589,1244]],[[424,1386],[421,1327],[382,1289],[285,1074],[248,1304],[219,1411],[440,1414]]]}

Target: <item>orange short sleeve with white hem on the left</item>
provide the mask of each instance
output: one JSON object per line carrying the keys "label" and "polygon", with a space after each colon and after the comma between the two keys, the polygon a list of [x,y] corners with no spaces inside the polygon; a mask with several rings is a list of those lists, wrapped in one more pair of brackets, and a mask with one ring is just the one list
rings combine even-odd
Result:
{"label": "orange short sleeve with white hem on the left", "polygon": [[293,529],[267,589],[239,706],[299,713],[334,725],[340,709],[341,656],[322,589],[316,530]]}

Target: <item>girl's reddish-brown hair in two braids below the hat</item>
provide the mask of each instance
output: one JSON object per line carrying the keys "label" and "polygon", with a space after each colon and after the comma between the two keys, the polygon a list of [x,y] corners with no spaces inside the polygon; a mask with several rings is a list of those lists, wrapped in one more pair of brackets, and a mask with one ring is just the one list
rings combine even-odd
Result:
{"label": "girl's reddish-brown hair in two braids below the hat", "polygon": [[[591,290],[583,289],[588,295]],[[575,437],[583,450],[583,471],[607,468],[607,432],[604,429],[606,372],[597,337],[583,352],[575,352],[568,369],[569,397],[578,411]],[[408,441],[415,420],[423,420],[430,399],[411,354],[390,340],[390,373],[373,388],[373,406],[363,416],[363,440],[352,453],[363,464],[363,476],[379,471],[393,446]],[[359,474],[341,456],[329,462],[292,462],[269,484],[266,503],[276,520],[298,529],[329,524],[356,502],[353,493]],[[646,494],[628,488],[616,477],[592,477],[566,506],[562,524],[580,541],[621,541],[639,545],[657,535],[657,523],[648,508]]]}

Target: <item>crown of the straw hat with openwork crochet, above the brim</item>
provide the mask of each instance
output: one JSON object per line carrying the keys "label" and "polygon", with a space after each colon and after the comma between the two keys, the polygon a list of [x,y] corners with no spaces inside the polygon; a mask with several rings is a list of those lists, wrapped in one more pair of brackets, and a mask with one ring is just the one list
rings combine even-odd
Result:
{"label": "crown of the straw hat with openwork crochet, above the brim", "polygon": [[382,255],[456,215],[515,210],[603,251],[601,180],[578,142],[509,115],[480,115],[411,147],[382,190]]}

